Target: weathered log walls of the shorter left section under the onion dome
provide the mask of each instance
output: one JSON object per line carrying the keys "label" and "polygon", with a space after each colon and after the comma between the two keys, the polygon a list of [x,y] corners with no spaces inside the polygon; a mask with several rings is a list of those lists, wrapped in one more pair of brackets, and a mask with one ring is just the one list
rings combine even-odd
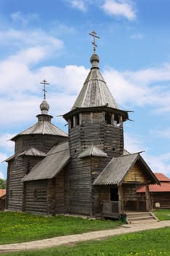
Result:
{"label": "weathered log walls of the shorter left section under the onion dome", "polygon": [[[15,159],[9,162],[7,170],[7,200],[6,208],[12,211],[25,211],[25,190],[22,178],[28,174],[34,165],[43,159],[36,156],[20,156],[29,148],[36,148],[47,153],[56,143],[67,138],[56,135],[20,135],[15,140]],[[46,203],[47,204],[47,203]],[[46,206],[47,207],[47,206]],[[28,208],[28,207],[27,207]],[[43,212],[44,213],[44,210]]]}

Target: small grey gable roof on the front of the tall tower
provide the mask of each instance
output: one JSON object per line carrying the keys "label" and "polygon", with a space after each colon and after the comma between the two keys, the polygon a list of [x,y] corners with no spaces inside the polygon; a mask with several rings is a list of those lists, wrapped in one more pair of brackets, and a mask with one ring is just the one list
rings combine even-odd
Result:
{"label": "small grey gable roof on the front of the tall tower", "polygon": [[92,144],[90,147],[86,148],[85,151],[82,151],[82,153],[80,153],[78,157],[83,158],[83,157],[108,157],[108,156],[107,156],[107,153],[105,153],[100,148]]}

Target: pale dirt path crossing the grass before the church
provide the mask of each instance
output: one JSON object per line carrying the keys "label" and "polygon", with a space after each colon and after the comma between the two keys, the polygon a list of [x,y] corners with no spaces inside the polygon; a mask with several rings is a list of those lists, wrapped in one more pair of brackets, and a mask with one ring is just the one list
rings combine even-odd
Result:
{"label": "pale dirt path crossing the grass before the church", "polygon": [[109,236],[133,233],[141,230],[152,230],[152,229],[157,229],[161,227],[170,227],[170,220],[162,221],[162,222],[140,223],[140,225],[127,224],[112,230],[101,230],[101,231],[94,231],[94,232],[82,233],[82,234],[70,235],[70,236],[59,236],[55,238],[48,238],[44,240],[31,241],[31,242],[20,243],[20,244],[5,244],[5,245],[0,245],[0,254],[4,252],[45,249],[53,246],[76,244],[81,241],[97,240],[97,239],[107,238]]}

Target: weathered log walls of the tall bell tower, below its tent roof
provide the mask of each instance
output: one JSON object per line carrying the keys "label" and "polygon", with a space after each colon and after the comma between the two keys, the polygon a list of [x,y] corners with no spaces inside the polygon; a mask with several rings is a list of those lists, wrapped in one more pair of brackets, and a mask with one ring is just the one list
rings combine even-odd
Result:
{"label": "weathered log walls of the tall bell tower, below its tent roof", "polygon": [[[92,144],[108,157],[78,158]],[[69,148],[72,161],[66,180],[66,209],[74,214],[101,214],[101,202],[109,199],[109,189],[93,187],[93,181],[112,157],[123,154],[123,127],[107,124],[104,111],[81,113],[80,125],[69,125]]]}

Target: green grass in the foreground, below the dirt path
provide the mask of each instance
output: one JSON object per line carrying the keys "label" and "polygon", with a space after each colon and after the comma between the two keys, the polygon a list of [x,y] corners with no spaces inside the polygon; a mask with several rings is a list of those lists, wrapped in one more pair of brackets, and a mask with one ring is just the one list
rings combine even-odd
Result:
{"label": "green grass in the foreground, below the dirt path", "polygon": [[163,256],[170,255],[170,228],[113,236],[102,241],[86,241],[75,246],[14,252],[7,256]]}

